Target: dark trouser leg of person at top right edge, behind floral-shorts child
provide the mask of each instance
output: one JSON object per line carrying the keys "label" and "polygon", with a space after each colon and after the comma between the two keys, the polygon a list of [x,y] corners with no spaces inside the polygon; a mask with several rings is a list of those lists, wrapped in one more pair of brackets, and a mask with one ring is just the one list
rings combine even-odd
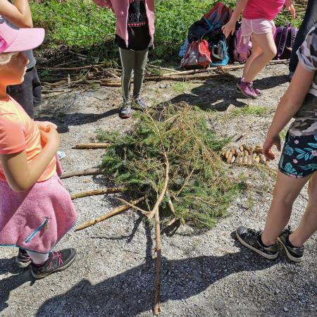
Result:
{"label": "dark trouser leg of person at top right edge, behind floral-shorts child", "polygon": [[298,57],[297,57],[297,49],[299,49],[299,46],[302,45],[302,43],[305,40],[305,37],[309,30],[311,30],[311,27],[317,23],[317,1],[316,0],[309,0],[306,8],[306,13],[302,22],[302,25],[299,27],[297,37],[294,42],[294,46],[292,49],[292,54],[290,56],[290,72],[294,73],[297,63],[298,63]]}

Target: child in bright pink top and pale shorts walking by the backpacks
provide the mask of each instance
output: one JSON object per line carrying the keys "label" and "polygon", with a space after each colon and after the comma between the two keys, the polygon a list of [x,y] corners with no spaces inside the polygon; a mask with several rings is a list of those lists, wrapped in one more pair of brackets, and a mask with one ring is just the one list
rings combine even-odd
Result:
{"label": "child in bright pink top and pale shorts walking by the backpacks", "polygon": [[223,34],[228,37],[235,32],[235,23],[242,13],[242,37],[249,41],[252,37],[252,53],[245,63],[242,78],[237,83],[237,92],[245,97],[257,98],[261,94],[259,89],[254,88],[252,80],[276,55],[276,46],[273,35],[275,25],[273,18],[285,6],[292,17],[295,18],[294,6],[291,0],[238,0],[235,11],[230,21],[223,26]]}

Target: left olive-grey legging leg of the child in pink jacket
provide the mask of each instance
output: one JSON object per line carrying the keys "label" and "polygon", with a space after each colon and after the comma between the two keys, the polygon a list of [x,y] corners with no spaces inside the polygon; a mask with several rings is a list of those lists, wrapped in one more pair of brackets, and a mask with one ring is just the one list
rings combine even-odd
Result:
{"label": "left olive-grey legging leg of the child in pink jacket", "polygon": [[123,92],[123,101],[129,101],[132,70],[135,67],[135,51],[121,48],[119,48],[119,51],[122,66],[121,85]]}

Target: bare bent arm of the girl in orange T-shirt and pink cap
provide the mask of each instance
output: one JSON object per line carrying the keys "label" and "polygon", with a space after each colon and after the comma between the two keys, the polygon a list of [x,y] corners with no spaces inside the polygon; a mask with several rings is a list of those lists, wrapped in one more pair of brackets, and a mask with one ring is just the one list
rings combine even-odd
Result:
{"label": "bare bent arm of the girl in orange T-shirt and pink cap", "polygon": [[32,162],[27,163],[25,150],[15,154],[0,154],[6,180],[16,192],[30,189],[56,155],[60,141],[56,129],[48,128],[46,131],[40,130],[40,133],[46,144]]}

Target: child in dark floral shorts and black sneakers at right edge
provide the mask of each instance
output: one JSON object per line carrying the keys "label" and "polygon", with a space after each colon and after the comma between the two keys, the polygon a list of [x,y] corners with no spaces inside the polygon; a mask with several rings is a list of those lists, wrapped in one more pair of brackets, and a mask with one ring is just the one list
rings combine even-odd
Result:
{"label": "child in dark floral shorts and black sneakers at right edge", "polygon": [[[272,147],[275,145],[280,150],[279,133],[294,116],[285,138],[266,226],[263,232],[244,226],[237,228],[238,240],[249,249],[266,259],[275,259],[278,240],[294,262],[302,261],[303,244],[317,230],[317,24],[309,31],[297,55],[299,64],[263,144],[263,154],[267,159],[274,159]],[[283,230],[306,182],[309,182],[309,201],[299,227],[294,232],[290,227]]]}

